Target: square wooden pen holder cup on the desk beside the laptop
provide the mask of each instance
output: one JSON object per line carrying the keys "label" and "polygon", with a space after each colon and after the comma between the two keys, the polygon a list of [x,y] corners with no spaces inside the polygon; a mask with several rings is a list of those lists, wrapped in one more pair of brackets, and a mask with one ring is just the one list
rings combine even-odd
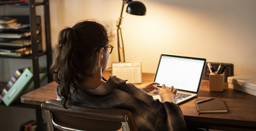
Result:
{"label": "square wooden pen holder cup on the desk beside the laptop", "polygon": [[215,73],[210,73],[210,91],[214,92],[223,92],[224,90],[224,82],[225,82],[225,74],[216,75]]}

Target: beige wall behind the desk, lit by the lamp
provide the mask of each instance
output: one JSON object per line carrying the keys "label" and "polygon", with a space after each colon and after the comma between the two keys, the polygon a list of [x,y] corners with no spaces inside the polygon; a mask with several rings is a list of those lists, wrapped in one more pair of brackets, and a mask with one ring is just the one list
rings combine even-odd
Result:
{"label": "beige wall behind the desk, lit by the lamp", "polygon": [[[140,0],[143,17],[123,14],[126,62],[155,72],[162,52],[234,64],[234,74],[256,73],[255,0]],[[114,30],[122,0],[50,0],[52,43],[77,21],[96,18]],[[125,5],[125,9],[126,9]],[[110,62],[118,62],[117,42]],[[111,64],[109,64],[111,65]]]}

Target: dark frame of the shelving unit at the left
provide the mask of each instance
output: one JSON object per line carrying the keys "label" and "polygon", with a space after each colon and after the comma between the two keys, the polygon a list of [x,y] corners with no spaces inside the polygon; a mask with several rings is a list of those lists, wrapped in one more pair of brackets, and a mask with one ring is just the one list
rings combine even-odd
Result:
{"label": "dark frame of the shelving unit at the left", "polygon": [[[46,55],[47,68],[49,69],[52,62],[52,48],[51,48],[51,32],[50,32],[50,12],[49,12],[49,0],[43,0],[43,2],[35,2],[35,0],[27,0],[26,4],[12,4],[12,5],[1,5],[0,8],[26,8],[29,10],[29,23],[30,23],[30,31],[31,31],[31,49],[32,54],[28,56],[14,57],[14,56],[3,56],[0,55],[1,58],[11,58],[11,59],[31,59],[32,67],[33,67],[33,80],[34,80],[34,89],[40,87],[40,79],[39,79],[39,57]],[[46,51],[38,51],[37,44],[37,22],[36,22],[36,7],[44,6],[44,24],[45,27],[45,39],[42,39],[46,44]],[[15,15],[15,14],[14,14]],[[42,44],[44,44],[42,42]],[[52,81],[52,76],[48,73],[48,82]],[[28,105],[14,102],[11,104],[12,106],[24,107],[24,108],[34,108],[36,110],[36,118],[37,118],[37,130],[42,131],[43,121],[42,121],[42,110],[40,106],[37,105]]]}

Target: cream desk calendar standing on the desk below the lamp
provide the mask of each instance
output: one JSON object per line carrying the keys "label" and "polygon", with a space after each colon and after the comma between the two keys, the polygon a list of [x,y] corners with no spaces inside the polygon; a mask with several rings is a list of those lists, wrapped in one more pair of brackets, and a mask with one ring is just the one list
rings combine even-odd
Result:
{"label": "cream desk calendar standing on the desk below the lamp", "polygon": [[112,63],[112,76],[128,80],[129,83],[142,83],[141,62]]}

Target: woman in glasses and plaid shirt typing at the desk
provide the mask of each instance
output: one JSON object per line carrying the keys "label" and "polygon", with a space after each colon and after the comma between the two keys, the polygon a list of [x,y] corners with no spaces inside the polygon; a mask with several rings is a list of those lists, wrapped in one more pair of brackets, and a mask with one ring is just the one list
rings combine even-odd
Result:
{"label": "woman in glasses and plaid shirt typing at the desk", "polygon": [[102,77],[113,46],[108,26],[96,20],[83,20],[59,32],[55,61],[50,72],[58,83],[57,100],[64,108],[69,104],[97,108],[125,109],[134,115],[138,130],[179,131],[186,123],[174,97],[177,89],[162,86],[164,102],[148,95],[156,82],[136,87],[127,80]]}

